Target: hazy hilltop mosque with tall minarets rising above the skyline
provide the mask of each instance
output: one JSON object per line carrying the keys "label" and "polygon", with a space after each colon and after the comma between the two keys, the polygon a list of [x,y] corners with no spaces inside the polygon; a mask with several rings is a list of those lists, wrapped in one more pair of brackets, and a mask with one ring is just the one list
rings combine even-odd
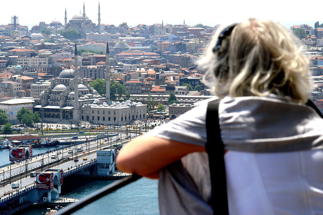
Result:
{"label": "hazy hilltop mosque with tall minarets rising above the skyline", "polygon": [[67,14],[65,8],[65,29],[75,28],[81,35],[85,35],[90,32],[98,32],[101,33],[100,23],[100,3],[99,3],[99,13],[98,13],[98,26],[89,19],[89,17],[85,14],[85,4],[83,3],[83,14],[81,12],[76,14],[69,20],[67,23]]}

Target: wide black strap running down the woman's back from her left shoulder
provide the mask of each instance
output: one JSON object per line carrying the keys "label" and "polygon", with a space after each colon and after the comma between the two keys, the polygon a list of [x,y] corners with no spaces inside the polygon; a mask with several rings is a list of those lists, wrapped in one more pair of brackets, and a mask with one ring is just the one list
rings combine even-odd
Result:
{"label": "wide black strap running down the woman's back from her left shoulder", "polygon": [[218,114],[219,103],[220,101],[211,101],[207,105],[207,143],[205,144],[205,149],[209,156],[213,213],[215,214],[215,211],[222,211],[221,214],[229,214],[224,166],[224,145],[221,139]]}

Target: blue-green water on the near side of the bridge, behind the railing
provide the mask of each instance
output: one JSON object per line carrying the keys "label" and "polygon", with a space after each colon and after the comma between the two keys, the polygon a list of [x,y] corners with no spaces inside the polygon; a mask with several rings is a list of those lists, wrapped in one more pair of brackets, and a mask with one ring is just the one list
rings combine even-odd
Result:
{"label": "blue-green water on the near side of the bridge, behind the railing", "polygon": [[[64,196],[82,198],[112,181],[92,181]],[[159,214],[157,180],[142,178],[76,211],[73,215]],[[40,215],[47,210],[32,209],[20,215]]]}

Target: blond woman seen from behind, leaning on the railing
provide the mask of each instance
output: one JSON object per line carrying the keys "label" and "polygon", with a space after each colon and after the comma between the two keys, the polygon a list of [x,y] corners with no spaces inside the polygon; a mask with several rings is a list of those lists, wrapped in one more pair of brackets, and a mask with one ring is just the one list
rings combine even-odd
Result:
{"label": "blond woman seen from behind, leaning on the railing", "polygon": [[218,30],[205,58],[218,110],[201,104],[123,147],[118,169],[159,178],[161,215],[323,214],[323,116],[297,43],[270,20]]}

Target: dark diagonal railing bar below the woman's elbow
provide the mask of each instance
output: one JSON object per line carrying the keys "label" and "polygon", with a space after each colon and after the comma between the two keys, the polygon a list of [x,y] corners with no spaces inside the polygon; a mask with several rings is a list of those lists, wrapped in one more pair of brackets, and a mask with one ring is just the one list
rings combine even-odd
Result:
{"label": "dark diagonal railing bar below the woman's elbow", "polygon": [[120,179],[116,182],[113,182],[111,184],[108,184],[107,186],[99,189],[98,191],[84,197],[83,199],[74,202],[66,207],[64,207],[63,209],[60,209],[57,213],[55,213],[55,215],[68,215],[71,214],[81,208],[83,208],[84,206],[90,204],[91,202],[98,200],[99,198],[108,195],[109,193],[127,185],[130,184],[133,181],[136,181],[138,179],[140,179],[141,176],[138,175],[131,175],[128,176],[126,178]]}

